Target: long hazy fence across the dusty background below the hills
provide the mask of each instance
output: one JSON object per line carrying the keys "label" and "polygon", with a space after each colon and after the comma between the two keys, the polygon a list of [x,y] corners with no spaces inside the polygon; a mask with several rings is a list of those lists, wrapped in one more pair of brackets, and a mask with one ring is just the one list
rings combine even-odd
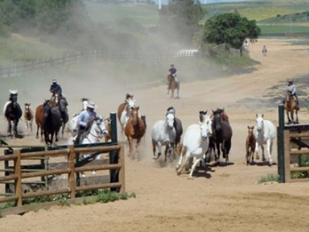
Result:
{"label": "long hazy fence across the dusty background below the hills", "polygon": [[[223,44],[210,49],[210,54],[217,54],[220,50],[228,50],[233,54],[240,54],[240,51],[228,48]],[[69,67],[74,64],[81,64],[91,61],[114,61],[114,62],[142,62],[156,63],[161,61],[190,60],[201,58],[200,52],[186,50],[184,52],[166,53],[166,54],[150,54],[143,52],[127,52],[127,51],[104,51],[104,50],[88,50],[82,52],[71,52],[62,57],[39,59],[32,61],[30,64],[15,64],[10,67],[0,66],[0,79],[8,77],[19,77],[28,72],[40,72],[46,68],[53,67]]]}

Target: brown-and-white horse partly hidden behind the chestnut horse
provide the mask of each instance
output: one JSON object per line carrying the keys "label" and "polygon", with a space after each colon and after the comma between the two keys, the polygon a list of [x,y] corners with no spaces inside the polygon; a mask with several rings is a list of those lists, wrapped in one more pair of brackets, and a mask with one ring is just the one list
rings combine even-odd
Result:
{"label": "brown-and-white horse partly hidden behind the chestnut horse", "polygon": [[121,134],[124,135],[124,128],[131,116],[131,109],[135,106],[133,95],[126,94],[126,100],[118,106],[117,117],[121,126]]}

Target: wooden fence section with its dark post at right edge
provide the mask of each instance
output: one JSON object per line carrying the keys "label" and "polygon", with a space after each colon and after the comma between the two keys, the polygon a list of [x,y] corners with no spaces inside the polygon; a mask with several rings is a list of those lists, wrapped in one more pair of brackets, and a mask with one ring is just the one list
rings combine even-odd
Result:
{"label": "wooden fence section with its dark post at right edge", "polygon": [[[279,105],[277,128],[279,182],[309,182],[309,177],[292,178],[291,173],[308,172],[309,166],[301,166],[301,155],[309,155],[309,125],[285,125],[284,106]],[[295,159],[297,157],[297,159]],[[295,162],[296,160],[296,162]]]}

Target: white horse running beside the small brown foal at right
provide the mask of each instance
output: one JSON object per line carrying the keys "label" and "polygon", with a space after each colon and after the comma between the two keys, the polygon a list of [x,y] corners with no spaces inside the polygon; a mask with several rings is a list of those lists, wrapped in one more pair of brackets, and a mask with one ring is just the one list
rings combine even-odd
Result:
{"label": "white horse running beside the small brown foal at right", "polygon": [[272,122],[269,120],[263,119],[264,115],[257,115],[257,126],[255,126],[255,139],[256,139],[256,146],[255,146],[255,154],[257,160],[259,159],[259,145],[262,149],[262,156],[263,161],[266,161],[265,155],[264,155],[264,146],[266,144],[266,150],[268,152],[268,162],[271,165],[272,164],[272,144],[274,142],[274,139],[277,135],[276,128]]}

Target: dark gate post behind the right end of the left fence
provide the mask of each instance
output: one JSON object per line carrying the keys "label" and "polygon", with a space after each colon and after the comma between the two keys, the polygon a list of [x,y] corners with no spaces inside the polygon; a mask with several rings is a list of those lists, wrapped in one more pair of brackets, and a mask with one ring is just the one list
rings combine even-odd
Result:
{"label": "dark gate post behind the right end of the left fence", "polygon": [[[112,143],[117,142],[117,116],[116,113],[110,113],[110,127],[112,131]],[[110,164],[118,164],[119,151],[110,151]],[[110,170],[110,183],[119,182],[119,171],[117,169]],[[119,188],[111,188],[111,191],[119,192]]]}

